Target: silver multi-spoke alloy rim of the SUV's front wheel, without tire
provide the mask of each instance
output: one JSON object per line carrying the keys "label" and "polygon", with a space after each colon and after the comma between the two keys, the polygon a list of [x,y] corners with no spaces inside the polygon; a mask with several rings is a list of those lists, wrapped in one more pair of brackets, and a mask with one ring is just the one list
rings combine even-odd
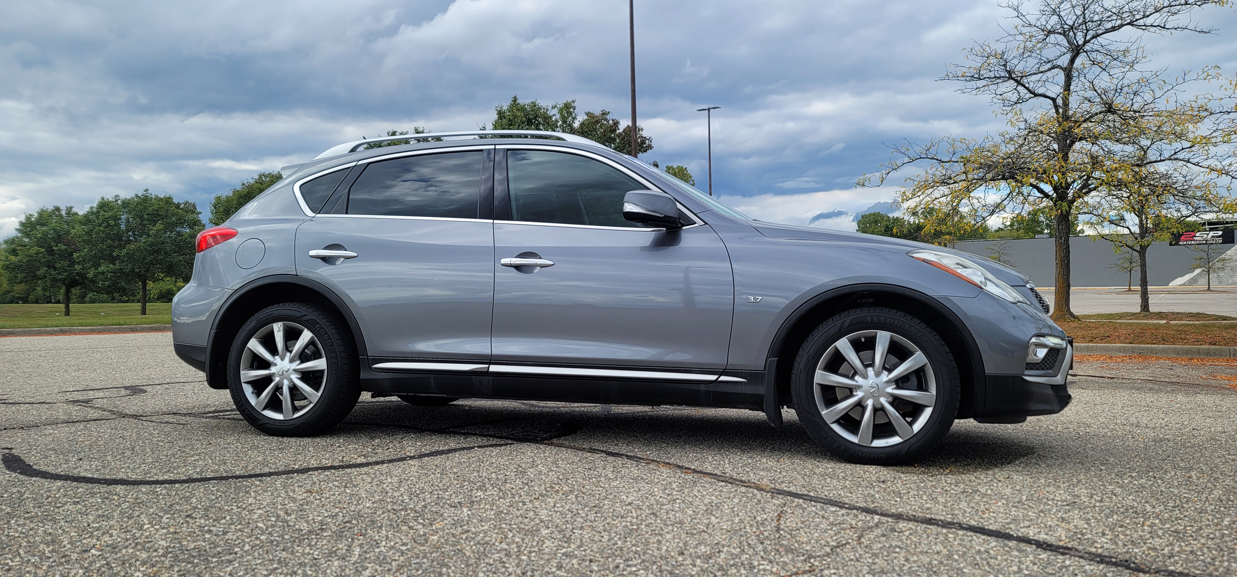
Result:
{"label": "silver multi-spoke alloy rim of the SUV's front wheel, without tire", "polygon": [[825,351],[813,378],[816,408],[844,439],[887,447],[919,432],[936,404],[928,357],[887,331],[846,335]]}

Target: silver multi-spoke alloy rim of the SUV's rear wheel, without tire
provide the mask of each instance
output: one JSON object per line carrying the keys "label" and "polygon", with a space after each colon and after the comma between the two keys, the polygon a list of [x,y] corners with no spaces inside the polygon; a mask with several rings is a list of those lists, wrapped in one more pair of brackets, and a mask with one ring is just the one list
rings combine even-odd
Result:
{"label": "silver multi-spoke alloy rim of the SUV's rear wheel, without tire", "polygon": [[322,343],[296,322],[266,325],[245,345],[240,382],[245,398],[260,413],[296,419],[313,408],[327,382]]}

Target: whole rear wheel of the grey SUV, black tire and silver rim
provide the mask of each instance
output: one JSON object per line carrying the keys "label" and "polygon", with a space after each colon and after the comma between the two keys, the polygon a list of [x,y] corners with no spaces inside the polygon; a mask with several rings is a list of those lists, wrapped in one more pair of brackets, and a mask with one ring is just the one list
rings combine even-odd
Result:
{"label": "whole rear wheel of the grey SUV, black tire and silver rim", "polygon": [[238,331],[228,355],[228,389],[255,429],[310,436],[351,413],[361,394],[357,367],[353,337],[339,319],[310,304],[283,303],[260,310]]}

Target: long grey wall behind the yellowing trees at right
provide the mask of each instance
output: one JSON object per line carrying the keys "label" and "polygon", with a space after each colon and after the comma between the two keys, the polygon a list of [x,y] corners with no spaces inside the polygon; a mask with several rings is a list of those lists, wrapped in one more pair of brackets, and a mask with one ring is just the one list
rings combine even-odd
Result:
{"label": "long grey wall behind the yellowing trees at right", "polygon": [[[1056,250],[1055,238],[1016,238],[1008,241],[964,241],[954,246],[960,251],[988,257],[999,242],[1008,242],[1009,252],[1006,261],[1030,277],[1037,287],[1055,284]],[[1232,245],[1222,245],[1232,248]],[[1190,264],[1196,253],[1184,246],[1168,246],[1158,242],[1147,250],[1147,280],[1152,287],[1166,287],[1179,277],[1191,272]],[[1075,236],[1070,238],[1070,283],[1074,287],[1124,287],[1127,274],[1108,268],[1117,262],[1112,243],[1098,236]],[[1138,271],[1134,271],[1134,287],[1138,285]]]}

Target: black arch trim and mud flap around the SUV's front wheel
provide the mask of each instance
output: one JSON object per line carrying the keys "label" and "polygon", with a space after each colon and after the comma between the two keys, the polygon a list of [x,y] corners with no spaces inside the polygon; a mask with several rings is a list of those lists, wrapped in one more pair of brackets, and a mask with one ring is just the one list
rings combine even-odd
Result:
{"label": "black arch trim and mud flap around the SUV's front wheel", "polygon": [[[925,293],[920,293],[918,290],[912,290],[912,289],[908,289],[905,287],[898,287],[896,284],[882,284],[882,283],[849,284],[849,285],[845,285],[845,287],[837,287],[837,288],[833,288],[833,289],[825,290],[824,293],[820,293],[820,294],[818,294],[818,295],[815,295],[815,297],[805,300],[803,304],[800,304],[798,308],[795,308],[794,311],[792,311],[785,318],[785,320],[782,321],[782,325],[778,327],[777,332],[774,334],[773,340],[769,342],[768,351],[766,351],[766,355],[764,355],[766,363],[768,363],[768,361],[771,361],[771,360],[776,361],[778,358],[778,356],[781,355],[782,347],[785,346],[785,341],[790,336],[790,334],[794,331],[794,329],[799,325],[799,322],[807,315],[809,315],[811,311],[814,311],[818,306],[820,306],[821,304],[824,304],[824,303],[826,303],[829,300],[846,299],[847,297],[857,298],[857,297],[860,297],[863,293],[887,293],[887,294],[894,294],[894,295],[898,295],[898,297],[904,297],[904,298],[914,299],[917,303],[930,308],[933,311],[935,311],[936,314],[939,314],[943,318],[945,318],[952,325],[954,330],[956,330],[957,334],[962,337],[962,343],[966,347],[966,352],[971,357],[971,371],[970,371],[971,387],[969,387],[970,390],[964,390],[962,392],[964,393],[964,398],[961,399],[961,406],[959,408],[959,418],[960,419],[970,418],[972,413],[976,413],[976,411],[983,409],[983,406],[985,406],[985,397],[986,397],[986,393],[987,393],[987,390],[986,390],[987,389],[987,385],[986,385],[987,384],[987,373],[985,372],[985,368],[983,368],[983,356],[980,352],[980,346],[975,341],[975,336],[971,335],[971,330],[966,326],[966,322],[962,322],[962,319],[959,318],[956,313],[954,313],[949,306],[946,306],[940,300],[938,300],[938,299],[935,299],[935,298],[933,298],[933,297],[930,297],[930,295],[928,295]],[[846,310],[845,306],[846,305],[844,304],[842,308],[839,308],[836,310],[836,313],[841,313],[842,310]],[[793,363],[792,362],[787,362],[787,363],[776,363],[774,362],[773,363],[773,366],[777,367],[778,372],[784,371],[790,364],[793,364]],[[962,367],[959,367],[959,371],[961,372]],[[776,387],[776,389],[778,392],[781,392],[779,394],[784,393],[785,397],[781,398],[779,403],[781,404],[785,404],[785,402],[788,400],[787,397],[789,394],[789,385],[790,385],[789,382],[777,383],[776,385],[768,387],[768,389],[772,390]],[[967,393],[970,393],[970,398],[966,397]],[[969,403],[969,400],[971,403]],[[772,403],[767,402],[766,406],[769,406]]]}

